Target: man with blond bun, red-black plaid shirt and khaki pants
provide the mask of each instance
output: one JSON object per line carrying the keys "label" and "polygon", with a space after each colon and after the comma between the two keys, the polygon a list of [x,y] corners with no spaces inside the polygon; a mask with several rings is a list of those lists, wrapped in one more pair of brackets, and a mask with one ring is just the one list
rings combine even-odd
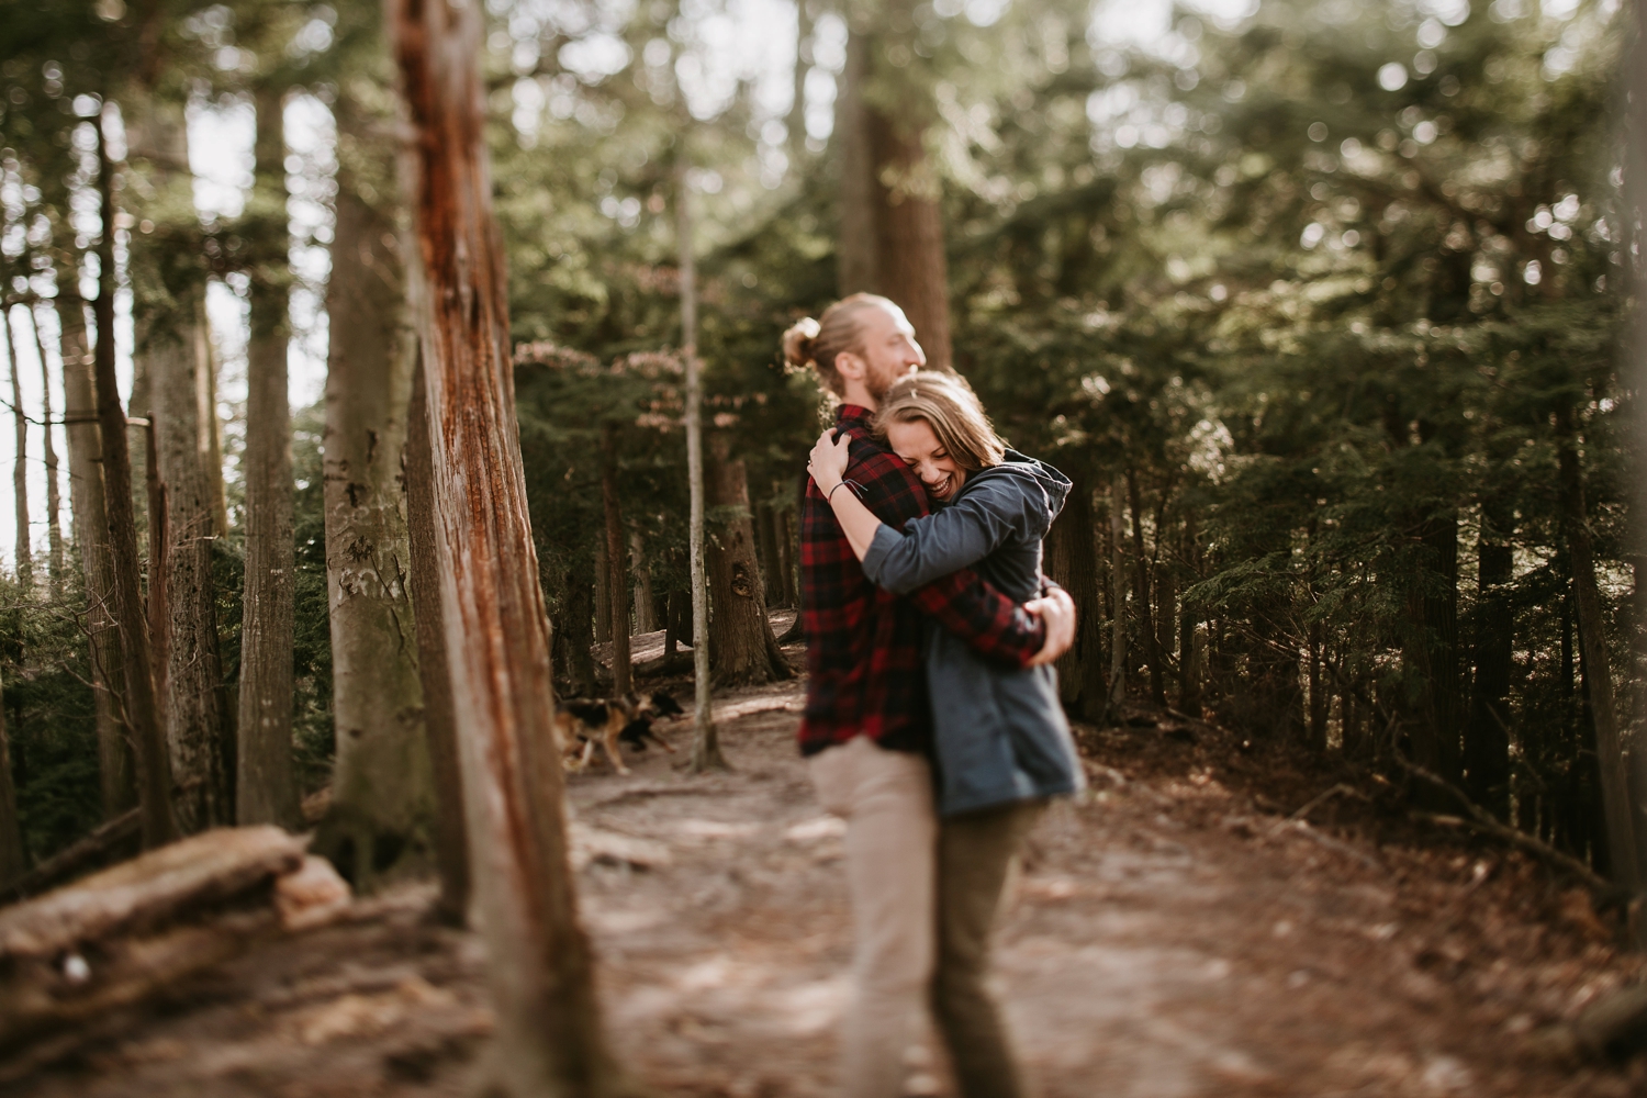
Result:
{"label": "man with blond bun, red-black plaid shirt and khaki pants", "polygon": [[[903,528],[927,512],[914,472],[870,435],[879,397],[926,364],[903,309],[853,295],[784,334],[784,356],[842,398],[851,481],[875,515]],[[899,599],[871,584],[815,482],[800,512],[807,710],[800,749],[819,800],[847,821],[853,1003],[842,1093],[898,1098],[904,1050],[932,978],[937,821],[927,761],[931,716],[921,616],[1008,663],[1056,658],[1074,640],[1064,591],[1019,607],[963,570]],[[1005,1037],[990,1055],[1008,1062]],[[1010,1072],[1015,1077],[1015,1072]]]}

